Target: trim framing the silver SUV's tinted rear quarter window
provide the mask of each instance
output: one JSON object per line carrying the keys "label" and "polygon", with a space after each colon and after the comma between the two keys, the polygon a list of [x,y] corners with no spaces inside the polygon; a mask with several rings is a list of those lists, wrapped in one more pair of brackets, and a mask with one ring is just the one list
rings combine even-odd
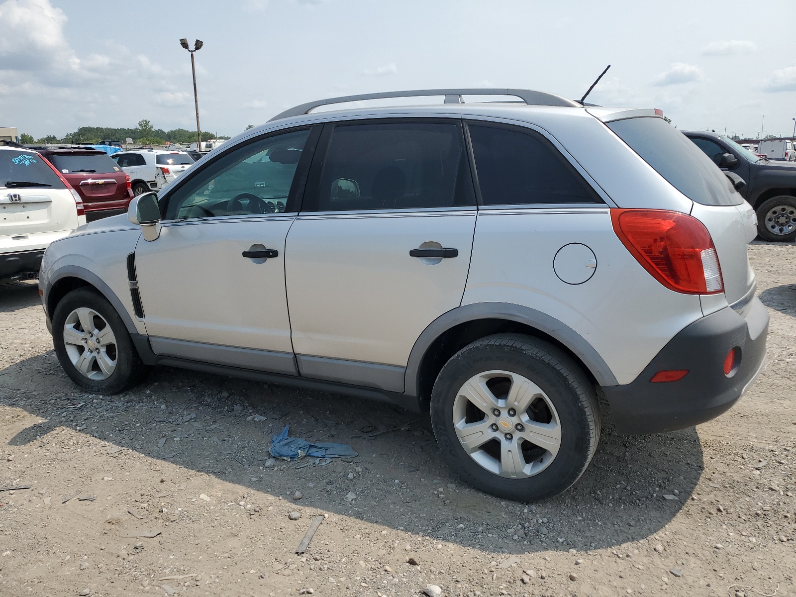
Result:
{"label": "trim framing the silver SUV's tinted rear quarter window", "polygon": [[475,185],[475,193],[476,197],[478,197],[478,209],[550,209],[550,208],[560,208],[562,205],[568,206],[568,208],[572,209],[595,209],[595,205],[598,207],[602,207],[599,203],[567,203],[567,204],[560,204],[560,203],[535,203],[535,204],[502,204],[502,205],[484,205],[482,202],[481,197],[481,188],[478,185],[478,169],[475,167],[475,153],[473,151],[472,141],[470,139],[470,125],[473,126],[491,126],[491,127],[498,127],[503,128],[507,131],[519,131],[525,135],[528,135],[528,131],[531,131],[533,135],[539,135],[544,141],[550,143],[555,150],[558,151],[558,154],[561,158],[564,158],[564,162],[568,163],[570,167],[576,170],[577,174],[579,174],[580,178],[583,179],[583,182],[591,188],[591,191],[595,193],[606,205],[606,207],[618,207],[615,202],[611,199],[608,193],[605,192],[603,187],[599,185],[594,178],[591,178],[591,174],[589,174],[586,170],[583,169],[583,166],[579,164],[579,162],[570,154],[566,147],[561,145],[561,143],[550,135],[548,131],[545,131],[541,127],[537,127],[532,123],[506,123],[500,120],[491,120],[491,119],[477,119],[473,117],[468,117],[467,119],[463,120],[464,127],[466,129],[466,142],[467,142],[467,150],[470,152],[470,170],[473,174],[473,181]]}

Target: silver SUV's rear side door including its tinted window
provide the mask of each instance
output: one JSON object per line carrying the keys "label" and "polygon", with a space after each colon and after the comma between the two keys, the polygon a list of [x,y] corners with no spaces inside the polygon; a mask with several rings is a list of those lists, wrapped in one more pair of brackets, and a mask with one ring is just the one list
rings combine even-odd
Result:
{"label": "silver SUV's rear side door including its tinted window", "polygon": [[412,345],[466,283],[476,209],[462,124],[334,123],[318,147],[285,250],[298,368],[403,392]]}

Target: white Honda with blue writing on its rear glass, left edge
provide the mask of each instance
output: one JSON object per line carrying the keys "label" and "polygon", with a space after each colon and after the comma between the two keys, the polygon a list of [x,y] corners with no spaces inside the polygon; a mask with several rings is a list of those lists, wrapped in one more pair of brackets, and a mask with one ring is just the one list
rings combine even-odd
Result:
{"label": "white Honda with blue writing on its rear glass, left edge", "polygon": [[41,154],[0,146],[0,279],[37,278],[45,248],[85,223],[80,195]]}

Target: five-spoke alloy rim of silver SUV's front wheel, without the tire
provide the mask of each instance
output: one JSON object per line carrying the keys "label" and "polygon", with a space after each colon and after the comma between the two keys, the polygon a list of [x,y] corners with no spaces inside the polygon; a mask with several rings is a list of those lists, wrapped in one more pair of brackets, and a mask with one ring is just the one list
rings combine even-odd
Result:
{"label": "five-spoke alloy rim of silver SUV's front wheel, without the tire", "polygon": [[106,380],[116,369],[116,338],[107,320],[96,310],[79,307],[68,314],[64,346],[75,369],[90,380]]}

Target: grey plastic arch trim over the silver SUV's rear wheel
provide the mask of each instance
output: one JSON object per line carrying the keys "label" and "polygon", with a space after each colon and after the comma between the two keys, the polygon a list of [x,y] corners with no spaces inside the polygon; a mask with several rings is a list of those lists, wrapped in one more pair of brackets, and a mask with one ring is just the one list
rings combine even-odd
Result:
{"label": "grey plastic arch trim over the silver SUV's rear wheel", "polygon": [[601,386],[617,385],[611,368],[600,357],[589,342],[571,327],[552,316],[527,306],[510,302],[479,302],[472,305],[458,306],[436,318],[427,326],[412,347],[406,369],[405,393],[417,396],[419,392],[419,373],[427,350],[440,335],[451,328],[478,319],[505,319],[523,323],[540,330],[555,338],[575,353]]}

